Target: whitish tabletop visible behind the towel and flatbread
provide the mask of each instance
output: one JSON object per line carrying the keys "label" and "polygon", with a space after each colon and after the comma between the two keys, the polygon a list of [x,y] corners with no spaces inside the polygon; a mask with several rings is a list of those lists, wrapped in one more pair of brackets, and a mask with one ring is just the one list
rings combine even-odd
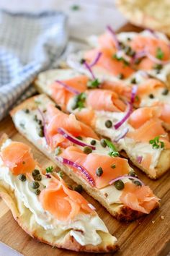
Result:
{"label": "whitish tabletop visible behind the towel and flatbread", "polygon": [[[79,10],[73,11],[73,5],[78,5]],[[115,7],[115,0],[0,0],[0,9],[12,12],[40,12],[51,9],[63,11],[69,18],[71,47],[76,45],[78,48],[86,36],[102,33],[106,25],[112,25],[117,30],[126,22]],[[9,251],[0,242],[0,256],[4,255],[20,254]]]}

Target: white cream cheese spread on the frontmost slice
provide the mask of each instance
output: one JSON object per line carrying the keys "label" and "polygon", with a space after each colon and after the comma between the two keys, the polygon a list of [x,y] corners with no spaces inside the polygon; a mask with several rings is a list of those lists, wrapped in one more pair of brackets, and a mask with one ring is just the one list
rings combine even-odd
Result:
{"label": "white cream cheese spread on the frontmost slice", "polygon": [[[9,142],[10,141],[8,141],[8,144]],[[18,179],[18,176],[14,176],[12,174],[12,171],[10,171],[9,168],[4,165],[1,158],[0,179],[4,180],[6,184],[9,184],[10,187],[14,189],[17,197],[22,200],[24,206],[26,208],[29,208],[35,216],[35,221],[45,230],[50,231],[51,234],[55,236],[61,236],[64,231],[68,230],[71,236],[73,236],[76,241],[79,242],[79,244],[97,245],[102,242],[102,239],[99,234],[97,234],[97,231],[103,231],[108,233],[107,227],[97,215],[91,216],[89,214],[79,214],[73,220],[66,222],[58,221],[50,213],[43,210],[37,195],[35,195],[33,189],[30,187],[28,177],[25,182],[20,181]],[[53,179],[53,176],[51,177],[51,179]],[[47,179],[45,175],[42,175],[42,181],[39,182],[40,189],[43,189],[44,186],[48,186],[48,183],[51,179]],[[115,238],[113,237],[113,239]]]}

